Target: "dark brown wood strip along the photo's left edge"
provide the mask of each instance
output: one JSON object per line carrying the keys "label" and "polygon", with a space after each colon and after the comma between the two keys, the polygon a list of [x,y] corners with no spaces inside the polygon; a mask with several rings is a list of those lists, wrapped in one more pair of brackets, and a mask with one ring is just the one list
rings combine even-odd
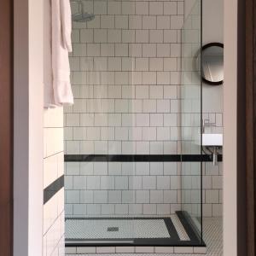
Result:
{"label": "dark brown wood strip along the photo's left edge", "polygon": [[13,254],[13,1],[0,7],[0,250]]}

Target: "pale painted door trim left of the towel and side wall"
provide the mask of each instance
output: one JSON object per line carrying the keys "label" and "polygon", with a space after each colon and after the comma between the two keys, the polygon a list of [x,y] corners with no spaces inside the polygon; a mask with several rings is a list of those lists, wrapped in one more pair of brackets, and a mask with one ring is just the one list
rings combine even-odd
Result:
{"label": "pale painted door trim left of the towel and side wall", "polygon": [[43,0],[15,0],[14,256],[43,253]]}

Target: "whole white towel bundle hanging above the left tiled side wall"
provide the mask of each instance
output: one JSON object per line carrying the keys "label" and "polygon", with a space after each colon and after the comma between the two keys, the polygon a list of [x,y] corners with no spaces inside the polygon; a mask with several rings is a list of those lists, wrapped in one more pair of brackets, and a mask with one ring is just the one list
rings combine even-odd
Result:
{"label": "whole white towel bundle hanging above the left tiled side wall", "polygon": [[72,51],[69,0],[44,2],[44,107],[73,104],[68,52]]}

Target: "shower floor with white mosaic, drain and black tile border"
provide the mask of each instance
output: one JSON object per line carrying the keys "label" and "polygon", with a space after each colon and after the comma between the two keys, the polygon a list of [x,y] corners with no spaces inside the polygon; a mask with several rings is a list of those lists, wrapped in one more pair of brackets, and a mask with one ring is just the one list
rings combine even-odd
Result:
{"label": "shower floor with white mosaic, drain and black tile border", "polygon": [[66,218],[66,247],[205,246],[183,212],[163,217]]}

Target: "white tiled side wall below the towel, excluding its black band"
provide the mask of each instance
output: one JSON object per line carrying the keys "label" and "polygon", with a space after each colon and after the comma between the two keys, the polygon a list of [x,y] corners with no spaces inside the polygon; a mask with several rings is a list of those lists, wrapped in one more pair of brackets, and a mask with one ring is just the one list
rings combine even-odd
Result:
{"label": "white tiled side wall below the towel, excluding its black band", "polygon": [[[63,108],[45,109],[44,189],[64,174],[63,139]],[[65,254],[64,218],[62,188],[44,204],[44,256]]]}

